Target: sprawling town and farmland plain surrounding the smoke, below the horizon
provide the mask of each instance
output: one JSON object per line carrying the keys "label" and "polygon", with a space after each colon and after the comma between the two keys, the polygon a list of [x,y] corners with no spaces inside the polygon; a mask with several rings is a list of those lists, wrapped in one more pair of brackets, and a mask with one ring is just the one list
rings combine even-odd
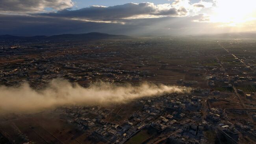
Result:
{"label": "sprawling town and farmland plain surrounding the smoke, below the horizon", "polygon": [[[255,39],[193,36],[1,41],[0,85],[51,79],[191,87],[106,106],[0,115],[0,143],[246,144],[256,142]],[[103,95],[104,96],[104,95]]]}

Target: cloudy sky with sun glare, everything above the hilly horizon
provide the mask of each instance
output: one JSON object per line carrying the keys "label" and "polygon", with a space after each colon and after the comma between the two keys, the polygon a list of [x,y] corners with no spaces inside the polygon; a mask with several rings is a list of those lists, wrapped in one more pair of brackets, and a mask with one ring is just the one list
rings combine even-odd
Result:
{"label": "cloudy sky with sun glare, everything above the hilly horizon", "polygon": [[0,0],[0,35],[256,31],[256,0]]}

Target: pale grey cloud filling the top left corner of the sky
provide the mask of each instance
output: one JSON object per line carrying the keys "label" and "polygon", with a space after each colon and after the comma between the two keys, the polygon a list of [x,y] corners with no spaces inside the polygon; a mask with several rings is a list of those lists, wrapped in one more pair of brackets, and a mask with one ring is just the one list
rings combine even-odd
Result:
{"label": "pale grey cloud filling the top left corner of the sky", "polygon": [[55,10],[74,6],[72,0],[0,0],[2,13],[37,13],[49,7]]}

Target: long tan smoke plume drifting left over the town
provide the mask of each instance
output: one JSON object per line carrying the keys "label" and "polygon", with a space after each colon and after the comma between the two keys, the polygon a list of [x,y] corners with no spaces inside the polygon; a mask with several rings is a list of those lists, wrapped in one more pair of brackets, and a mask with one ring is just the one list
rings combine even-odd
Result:
{"label": "long tan smoke plume drifting left over the town", "polygon": [[88,88],[71,84],[63,79],[53,79],[43,90],[34,90],[28,83],[20,87],[0,86],[0,112],[37,112],[62,105],[108,105],[126,103],[148,96],[189,92],[181,86],[142,83],[139,86],[115,85],[97,82]]}

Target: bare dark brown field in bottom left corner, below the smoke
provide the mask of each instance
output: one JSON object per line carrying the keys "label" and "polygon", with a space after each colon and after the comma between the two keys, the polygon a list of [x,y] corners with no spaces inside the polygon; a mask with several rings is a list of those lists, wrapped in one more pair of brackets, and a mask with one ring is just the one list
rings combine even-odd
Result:
{"label": "bare dark brown field in bottom left corner, below the smoke", "polygon": [[[53,124],[54,123],[54,124]],[[81,144],[83,132],[53,115],[36,115],[0,125],[0,132],[17,143],[26,138],[38,144]]]}

